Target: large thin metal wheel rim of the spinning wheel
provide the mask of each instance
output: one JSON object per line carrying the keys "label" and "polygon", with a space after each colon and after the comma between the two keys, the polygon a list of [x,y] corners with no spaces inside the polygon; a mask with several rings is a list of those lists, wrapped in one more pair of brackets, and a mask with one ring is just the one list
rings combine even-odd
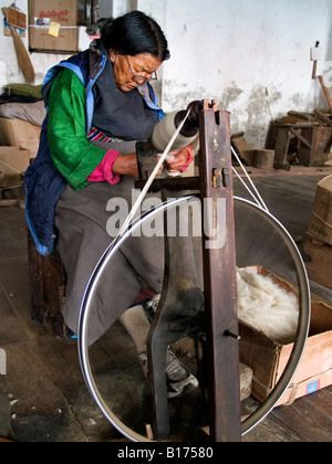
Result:
{"label": "large thin metal wheel rim of the spinning wheel", "polygon": [[[154,442],[154,440],[149,440],[129,429],[108,408],[108,405],[103,400],[98,388],[93,379],[92,369],[89,360],[89,345],[87,345],[87,325],[89,325],[89,315],[91,303],[93,300],[93,296],[100,278],[103,275],[105,267],[108,265],[108,262],[112,260],[113,255],[116,251],[121,247],[121,245],[126,241],[132,233],[142,225],[145,220],[151,220],[154,214],[160,213],[168,208],[174,208],[177,204],[188,201],[196,196],[187,196],[180,197],[173,201],[162,203],[159,207],[155,208],[152,212],[144,214],[142,218],[136,220],[132,226],[122,235],[120,240],[111,243],[110,247],[105,251],[104,255],[101,257],[98,264],[96,265],[93,274],[91,275],[90,282],[86,286],[85,294],[81,305],[80,318],[79,318],[79,330],[77,330],[77,347],[79,347],[79,358],[81,363],[81,369],[83,373],[83,378],[87,386],[87,389],[98,405],[102,413],[105,418],[111,422],[111,424],[121,432],[125,437],[133,442]],[[301,361],[305,341],[308,338],[309,325],[310,325],[310,314],[311,314],[311,295],[310,295],[310,287],[308,275],[305,271],[305,266],[301,254],[289,234],[289,232],[284,229],[284,226],[269,212],[252,203],[251,201],[245,200],[239,197],[234,197],[235,203],[239,203],[246,205],[251,211],[258,213],[263,220],[267,222],[278,232],[278,234],[282,238],[287,250],[289,251],[294,267],[297,271],[297,277],[299,283],[299,299],[300,299],[300,312],[299,312],[299,324],[298,324],[298,331],[297,338],[293,344],[293,349],[291,351],[289,361],[284,368],[282,376],[280,377],[279,381],[274,386],[273,390],[270,392],[269,397],[257,408],[257,410],[250,414],[248,419],[246,419],[241,424],[241,433],[245,435],[249,431],[251,431],[255,426],[257,426],[274,408],[278,401],[281,399],[286,390],[288,389],[297,369]]]}

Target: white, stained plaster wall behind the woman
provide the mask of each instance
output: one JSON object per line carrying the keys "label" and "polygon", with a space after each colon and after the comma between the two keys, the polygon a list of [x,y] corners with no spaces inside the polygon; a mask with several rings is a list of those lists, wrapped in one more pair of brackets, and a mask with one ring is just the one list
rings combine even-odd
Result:
{"label": "white, stained plaster wall behind the woman", "polygon": [[[28,0],[17,6],[28,11]],[[320,41],[324,61],[318,73],[332,88],[331,0],[113,0],[113,12],[136,6],[159,22],[169,42],[172,59],[163,64],[156,87],[165,110],[217,98],[231,113],[232,133],[243,130],[251,145],[263,147],[271,119],[290,109],[328,107],[318,80],[311,78],[310,49]],[[81,38],[84,49],[84,30]],[[0,86],[23,82],[12,40],[2,32],[0,48]],[[64,57],[31,54],[35,83]]]}

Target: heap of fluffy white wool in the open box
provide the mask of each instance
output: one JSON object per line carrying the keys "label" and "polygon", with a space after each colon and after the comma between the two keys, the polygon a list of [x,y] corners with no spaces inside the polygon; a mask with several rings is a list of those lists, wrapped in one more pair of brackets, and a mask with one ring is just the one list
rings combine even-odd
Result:
{"label": "heap of fluffy white wool in the open box", "polygon": [[279,344],[294,341],[299,303],[293,293],[250,267],[237,270],[237,286],[239,319]]}

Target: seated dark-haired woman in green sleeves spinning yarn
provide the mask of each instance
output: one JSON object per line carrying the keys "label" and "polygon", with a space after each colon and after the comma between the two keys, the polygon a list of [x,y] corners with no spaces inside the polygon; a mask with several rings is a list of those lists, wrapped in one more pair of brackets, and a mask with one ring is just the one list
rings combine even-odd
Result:
{"label": "seated dark-haired woman in green sleeves spinning yarn", "polygon": [[[108,20],[90,50],[52,67],[44,80],[48,116],[37,160],[25,175],[27,219],[39,252],[49,255],[54,244],[60,252],[68,274],[62,312],[73,333],[89,277],[112,240],[106,204],[117,197],[131,202],[135,143],[148,139],[164,117],[148,81],[167,59],[159,25],[132,11]],[[167,170],[183,170],[188,149],[173,155]],[[120,316],[135,340],[131,315],[145,325],[141,307],[123,313],[142,288],[160,292],[163,274],[162,239],[142,236],[124,246],[98,292],[90,341]],[[141,334],[146,336],[146,328]],[[141,354],[144,337],[138,334],[135,342]]]}

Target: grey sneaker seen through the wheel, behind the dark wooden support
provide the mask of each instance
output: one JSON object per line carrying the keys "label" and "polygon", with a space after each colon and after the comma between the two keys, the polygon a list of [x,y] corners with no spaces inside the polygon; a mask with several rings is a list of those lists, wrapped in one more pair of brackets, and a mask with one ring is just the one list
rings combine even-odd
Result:
{"label": "grey sneaker seen through the wheel, behind the dark wooden support", "polygon": [[[144,376],[147,377],[147,354],[141,352],[138,360]],[[166,383],[168,398],[183,397],[198,387],[196,377],[169,348],[166,351]]]}

